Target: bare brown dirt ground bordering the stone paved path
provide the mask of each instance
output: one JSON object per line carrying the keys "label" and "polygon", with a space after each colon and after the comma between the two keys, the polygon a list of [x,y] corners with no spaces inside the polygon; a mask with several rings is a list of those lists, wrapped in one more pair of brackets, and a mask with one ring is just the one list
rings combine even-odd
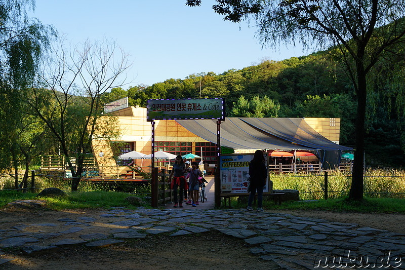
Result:
{"label": "bare brown dirt ground bordering the stone paved path", "polygon": [[[98,217],[100,210],[70,211],[71,214]],[[386,229],[405,234],[405,215],[334,213],[329,211],[275,211],[298,216],[323,218],[330,221],[358,223],[360,226]],[[46,223],[66,212],[21,209],[0,210],[0,225],[7,227],[21,222]],[[52,221],[51,221],[52,220]],[[4,227],[4,226],[0,226]],[[126,240],[125,243],[101,249],[85,247],[65,248],[51,254],[27,256],[18,250],[9,250],[0,258],[17,258],[0,266],[2,269],[281,269],[271,261],[249,255],[249,247],[243,240],[210,231],[199,235],[169,237],[147,236],[141,240]]]}

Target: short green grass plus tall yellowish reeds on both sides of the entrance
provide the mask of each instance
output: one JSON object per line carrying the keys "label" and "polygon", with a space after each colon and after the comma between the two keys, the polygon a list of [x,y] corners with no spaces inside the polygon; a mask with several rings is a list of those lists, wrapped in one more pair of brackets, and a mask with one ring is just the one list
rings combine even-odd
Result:
{"label": "short green grass plus tall yellowish reeds on both sides of the entrance", "polygon": [[[335,212],[362,212],[362,213],[401,213],[405,214],[405,171],[392,169],[369,169],[365,172],[365,199],[361,202],[349,202],[347,191],[350,189],[350,176],[347,172],[330,172],[328,178],[329,200],[323,199],[322,190],[324,187],[323,175],[299,175],[284,174],[270,175],[273,181],[273,189],[296,189],[300,192],[299,202],[283,202],[281,206],[275,205],[272,201],[264,201],[266,209],[302,209],[302,210],[329,210]],[[47,187],[58,187],[62,190],[69,190],[67,181],[61,181],[59,175],[38,176],[35,186],[38,192]],[[13,179],[3,180],[1,188],[12,189]],[[150,196],[150,184],[143,186],[118,185],[116,187],[101,184],[93,184],[81,181],[80,192],[68,192],[66,198],[41,198],[48,202],[48,207],[55,210],[80,209],[80,208],[110,208],[128,207],[125,198],[135,196],[143,198]],[[109,189],[109,190],[107,190]],[[119,191],[131,192],[119,192]],[[379,194],[376,194],[379,193]],[[0,190],[0,206],[5,206],[15,200],[37,199],[36,193],[22,193],[15,190]],[[144,207],[150,207],[145,203]],[[233,208],[246,208],[247,197],[237,200],[231,199]]]}

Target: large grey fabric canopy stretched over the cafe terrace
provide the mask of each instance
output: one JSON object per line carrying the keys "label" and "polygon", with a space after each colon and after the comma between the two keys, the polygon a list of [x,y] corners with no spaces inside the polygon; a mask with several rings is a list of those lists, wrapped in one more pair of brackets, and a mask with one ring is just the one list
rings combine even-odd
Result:
{"label": "large grey fabric canopy stretched over the cafe terrace", "polygon": [[[216,120],[176,120],[195,135],[217,143]],[[233,149],[351,150],[320,135],[301,118],[226,118],[221,145]]]}

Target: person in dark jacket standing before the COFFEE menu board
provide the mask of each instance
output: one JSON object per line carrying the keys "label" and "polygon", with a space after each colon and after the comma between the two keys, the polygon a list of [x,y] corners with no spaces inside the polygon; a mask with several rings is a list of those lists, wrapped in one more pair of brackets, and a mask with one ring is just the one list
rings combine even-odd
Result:
{"label": "person in dark jacket standing before the COFFEE menu board", "polygon": [[250,195],[248,201],[248,210],[252,211],[252,202],[256,195],[257,190],[257,211],[264,211],[262,208],[263,203],[263,189],[267,180],[267,166],[264,160],[263,151],[256,150],[253,160],[249,163],[250,175]]}

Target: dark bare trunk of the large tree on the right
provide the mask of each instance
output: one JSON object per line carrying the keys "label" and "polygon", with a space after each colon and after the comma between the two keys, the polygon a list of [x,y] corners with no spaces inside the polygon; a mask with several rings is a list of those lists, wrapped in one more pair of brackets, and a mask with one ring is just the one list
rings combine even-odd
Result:
{"label": "dark bare trunk of the large tree on the right", "polygon": [[[361,67],[360,67],[361,65]],[[360,201],[364,193],[364,137],[366,119],[367,84],[362,64],[357,66],[357,115],[355,127],[355,151],[349,200]]]}

